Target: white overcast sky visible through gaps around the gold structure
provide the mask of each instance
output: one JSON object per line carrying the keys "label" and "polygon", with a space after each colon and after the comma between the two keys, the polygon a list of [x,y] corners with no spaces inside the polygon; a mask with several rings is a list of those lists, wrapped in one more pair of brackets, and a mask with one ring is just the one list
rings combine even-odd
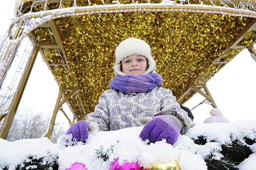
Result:
{"label": "white overcast sky visible through gaps around the gold structure", "polygon": [[[5,34],[11,23],[10,19],[14,17],[14,1],[0,1],[0,36]],[[207,82],[207,87],[222,115],[230,122],[256,120],[255,86],[256,61],[253,60],[247,49],[241,51]],[[29,108],[35,113],[51,115],[57,95],[58,86],[54,77],[42,56],[38,54],[18,109]],[[196,94],[183,105],[192,109],[203,100],[204,98],[200,94]],[[193,109],[194,123],[202,123],[210,117],[212,108],[209,104],[201,104]],[[69,111],[67,113],[72,117]],[[57,119],[67,123],[62,113],[58,113]]]}

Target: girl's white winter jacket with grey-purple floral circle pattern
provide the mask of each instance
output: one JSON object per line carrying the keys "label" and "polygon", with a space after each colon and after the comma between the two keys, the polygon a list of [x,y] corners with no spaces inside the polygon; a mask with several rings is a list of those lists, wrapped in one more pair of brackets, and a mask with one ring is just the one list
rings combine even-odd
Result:
{"label": "girl's white winter jacket with grey-purple floral circle pattern", "polygon": [[163,87],[156,87],[146,93],[106,90],[100,96],[94,112],[89,113],[86,120],[98,123],[101,131],[109,131],[139,126],[138,118],[166,113],[178,117],[183,122],[181,134],[185,134],[193,126],[187,112],[176,102],[172,91]]}

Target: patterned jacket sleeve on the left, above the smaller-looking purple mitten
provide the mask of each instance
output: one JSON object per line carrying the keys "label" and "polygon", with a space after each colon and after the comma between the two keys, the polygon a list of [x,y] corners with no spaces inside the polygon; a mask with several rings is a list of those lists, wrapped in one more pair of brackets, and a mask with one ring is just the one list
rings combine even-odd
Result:
{"label": "patterned jacket sleeve on the left, above the smaller-looking purple mitten", "polygon": [[110,115],[105,92],[101,94],[99,102],[94,108],[94,112],[87,114],[85,120],[97,123],[100,131],[110,130]]}

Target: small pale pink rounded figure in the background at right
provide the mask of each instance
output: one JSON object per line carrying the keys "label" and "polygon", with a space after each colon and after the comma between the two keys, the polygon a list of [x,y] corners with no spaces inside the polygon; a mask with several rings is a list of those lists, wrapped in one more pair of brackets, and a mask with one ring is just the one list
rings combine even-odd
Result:
{"label": "small pale pink rounded figure in the background at right", "polygon": [[223,117],[221,111],[217,108],[212,109],[210,111],[210,114],[212,115],[212,117],[205,119],[203,123],[213,123],[213,122],[229,123],[229,120]]}

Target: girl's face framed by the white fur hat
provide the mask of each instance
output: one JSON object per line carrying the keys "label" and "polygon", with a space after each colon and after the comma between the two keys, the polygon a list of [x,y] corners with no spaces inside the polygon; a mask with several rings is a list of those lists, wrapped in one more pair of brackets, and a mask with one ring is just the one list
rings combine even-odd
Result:
{"label": "girl's face framed by the white fur hat", "polygon": [[147,69],[146,57],[142,55],[132,54],[123,59],[122,72],[127,75],[140,75],[143,74]]}

